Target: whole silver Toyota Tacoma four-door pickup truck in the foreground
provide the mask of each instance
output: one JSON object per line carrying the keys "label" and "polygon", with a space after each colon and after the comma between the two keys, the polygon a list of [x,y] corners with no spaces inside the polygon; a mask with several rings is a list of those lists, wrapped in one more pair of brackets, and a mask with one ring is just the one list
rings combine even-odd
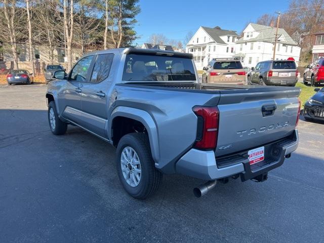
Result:
{"label": "whole silver Toyota Tacoma four-door pickup truck in the foreground", "polygon": [[48,86],[55,135],[76,125],[116,147],[116,170],[135,198],[163,174],[264,181],[298,146],[300,89],[200,84],[192,55],[155,49],[89,53]]}

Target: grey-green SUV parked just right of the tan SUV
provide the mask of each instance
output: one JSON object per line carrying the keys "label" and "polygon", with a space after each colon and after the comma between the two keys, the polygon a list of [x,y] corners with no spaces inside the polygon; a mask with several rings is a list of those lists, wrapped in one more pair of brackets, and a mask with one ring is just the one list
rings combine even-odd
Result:
{"label": "grey-green SUV parked just right of the tan SUV", "polygon": [[298,71],[293,60],[262,61],[248,73],[249,85],[295,86]]}

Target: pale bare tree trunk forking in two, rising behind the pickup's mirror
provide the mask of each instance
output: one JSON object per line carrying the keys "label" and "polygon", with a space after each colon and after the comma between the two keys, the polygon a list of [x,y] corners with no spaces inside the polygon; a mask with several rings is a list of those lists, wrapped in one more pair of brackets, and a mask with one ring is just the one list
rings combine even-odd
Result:
{"label": "pale bare tree trunk forking in two, rising behind the pickup's mirror", "polygon": [[63,0],[63,14],[64,14],[64,31],[66,38],[67,48],[67,70],[72,67],[72,41],[73,41],[73,28],[74,28],[74,16],[73,16],[73,0]]}

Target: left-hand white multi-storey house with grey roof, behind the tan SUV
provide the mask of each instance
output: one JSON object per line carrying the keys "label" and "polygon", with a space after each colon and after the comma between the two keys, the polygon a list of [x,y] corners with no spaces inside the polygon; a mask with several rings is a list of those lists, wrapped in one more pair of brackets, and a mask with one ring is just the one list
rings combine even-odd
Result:
{"label": "left-hand white multi-storey house with grey roof, behind the tan SUV", "polygon": [[200,26],[186,45],[186,53],[192,53],[196,68],[202,70],[213,58],[232,57],[239,35],[220,27]]}

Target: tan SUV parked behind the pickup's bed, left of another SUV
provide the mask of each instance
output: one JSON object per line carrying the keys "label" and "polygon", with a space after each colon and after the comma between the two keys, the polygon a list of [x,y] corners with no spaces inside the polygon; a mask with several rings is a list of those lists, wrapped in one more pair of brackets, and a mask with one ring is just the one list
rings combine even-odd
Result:
{"label": "tan SUV parked behind the pickup's bed, left of another SUV", "polygon": [[203,83],[245,85],[246,72],[235,58],[214,58],[203,69]]}

